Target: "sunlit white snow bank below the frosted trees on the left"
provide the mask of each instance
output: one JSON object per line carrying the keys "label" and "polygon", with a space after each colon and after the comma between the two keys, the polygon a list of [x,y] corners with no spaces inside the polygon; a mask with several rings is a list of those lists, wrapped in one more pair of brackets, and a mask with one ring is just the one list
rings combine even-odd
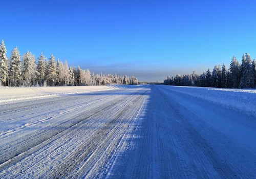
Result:
{"label": "sunlit white snow bank below the frosted trees on the left", "polygon": [[41,98],[63,94],[123,88],[125,85],[107,86],[54,86],[54,87],[0,87],[0,103],[13,100]]}

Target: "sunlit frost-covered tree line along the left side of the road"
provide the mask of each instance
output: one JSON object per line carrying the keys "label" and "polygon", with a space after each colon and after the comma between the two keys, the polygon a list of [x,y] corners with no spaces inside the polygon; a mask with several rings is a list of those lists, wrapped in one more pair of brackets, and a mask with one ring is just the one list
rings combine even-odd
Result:
{"label": "sunlit frost-covered tree line along the left side of the road", "polygon": [[[15,47],[10,59],[6,57],[5,42],[0,45],[0,85],[1,86],[80,86],[80,85],[108,85],[108,84],[138,84],[135,76],[118,76],[116,74],[94,74],[88,69],[82,70],[68,66],[67,60],[63,63],[55,60],[52,54],[47,59],[44,54],[35,59],[27,51],[19,56]],[[37,62],[36,62],[37,61]]]}

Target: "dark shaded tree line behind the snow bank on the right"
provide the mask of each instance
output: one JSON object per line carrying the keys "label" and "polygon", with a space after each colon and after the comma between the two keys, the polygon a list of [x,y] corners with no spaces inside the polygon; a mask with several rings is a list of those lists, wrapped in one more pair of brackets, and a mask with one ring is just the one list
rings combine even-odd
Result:
{"label": "dark shaded tree line behind the snow bank on the right", "polygon": [[229,69],[225,64],[215,65],[214,70],[193,74],[167,77],[165,85],[177,86],[202,86],[202,87],[223,87],[223,88],[256,88],[256,61],[251,61],[249,54],[244,54],[241,64],[233,56]]}

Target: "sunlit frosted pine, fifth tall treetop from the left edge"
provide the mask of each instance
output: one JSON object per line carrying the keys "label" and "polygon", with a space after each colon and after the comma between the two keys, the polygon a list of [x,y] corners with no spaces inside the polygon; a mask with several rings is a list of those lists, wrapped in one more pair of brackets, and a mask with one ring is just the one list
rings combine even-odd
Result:
{"label": "sunlit frosted pine, fifth tall treetop from the left edge", "polygon": [[51,58],[48,61],[48,70],[47,70],[47,81],[49,81],[50,86],[54,86],[55,82],[57,80],[57,66],[55,57],[53,54],[51,55]]}

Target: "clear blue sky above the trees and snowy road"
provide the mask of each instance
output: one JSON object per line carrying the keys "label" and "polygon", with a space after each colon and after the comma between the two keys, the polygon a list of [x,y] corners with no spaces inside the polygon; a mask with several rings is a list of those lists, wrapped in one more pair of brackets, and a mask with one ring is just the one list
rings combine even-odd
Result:
{"label": "clear blue sky above the trees and snowy road", "polygon": [[99,73],[161,81],[256,58],[256,1],[1,1],[0,38]]}

